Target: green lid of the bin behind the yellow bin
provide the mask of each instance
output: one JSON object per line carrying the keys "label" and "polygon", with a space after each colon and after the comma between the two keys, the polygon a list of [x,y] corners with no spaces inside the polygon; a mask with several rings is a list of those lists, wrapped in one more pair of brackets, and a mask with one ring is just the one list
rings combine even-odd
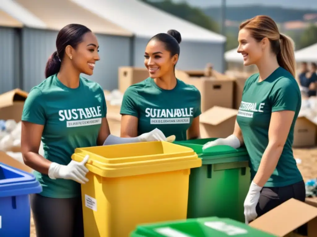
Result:
{"label": "green lid of the bin behind the yellow bin", "polygon": [[239,158],[235,161],[226,161],[226,162],[237,162],[237,161],[248,161],[248,151],[245,147],[240,147],[234,149],[227,145],[219,145],[207,148],[203,151],[203,145],[207,142],[216,140],[217,138],[203,138],[203,139],[193,139],[186,141],[176,141],[175,144],[190,147],[193,149],[197,155],[203,160],[214,160],[219,158],[230,158],[236,157]]}

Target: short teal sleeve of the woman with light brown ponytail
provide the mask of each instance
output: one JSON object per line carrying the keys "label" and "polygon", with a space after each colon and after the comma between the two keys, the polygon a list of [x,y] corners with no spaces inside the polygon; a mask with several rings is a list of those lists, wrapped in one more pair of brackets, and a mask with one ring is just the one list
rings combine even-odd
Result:
{"label": "short teal sleeve of the woman with light brown ponytail", "polygon": [[272,112],[290,110],[296,111],[300,103],[300,90],[295,79],[281,78],[274,85],[270,101]]}

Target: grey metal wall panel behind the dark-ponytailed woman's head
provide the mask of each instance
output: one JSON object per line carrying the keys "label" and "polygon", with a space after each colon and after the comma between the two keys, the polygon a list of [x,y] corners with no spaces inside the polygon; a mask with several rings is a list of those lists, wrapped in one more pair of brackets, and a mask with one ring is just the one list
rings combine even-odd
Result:
{"label": "grey metal wall panel behind the dark-ponytailed woman's head", "polygon": [[[45,79],[47,59],[56,50],[56,31],[23,29],[23,88],[29,91]],[[97,34],[100,61],[94,75],[87,79],[98,82],[104,89],[118,88],[118,67],[130,65],[130,38]]]}

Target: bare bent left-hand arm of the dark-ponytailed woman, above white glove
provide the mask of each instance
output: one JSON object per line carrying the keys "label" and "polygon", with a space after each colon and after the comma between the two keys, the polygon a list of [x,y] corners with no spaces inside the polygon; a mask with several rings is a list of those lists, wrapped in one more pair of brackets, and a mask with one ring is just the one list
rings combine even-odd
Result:
{"label": "bare bent left-hand arm of the dark-ponytailed woman, above white glove", "polygon": [[32,169],[48,174],[51,161],[39,155],[44,126],[22,121],[21,152],[24,163]]}

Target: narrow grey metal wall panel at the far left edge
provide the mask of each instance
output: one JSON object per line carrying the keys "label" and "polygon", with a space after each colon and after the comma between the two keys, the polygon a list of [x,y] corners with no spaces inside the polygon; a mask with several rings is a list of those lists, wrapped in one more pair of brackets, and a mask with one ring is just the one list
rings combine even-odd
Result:
{"label": "narrow grey metal wall panel at the far left edge", "polygon": [[16,87],[19,78],[15,74],[16,30],[0,27],[0,94]]}

